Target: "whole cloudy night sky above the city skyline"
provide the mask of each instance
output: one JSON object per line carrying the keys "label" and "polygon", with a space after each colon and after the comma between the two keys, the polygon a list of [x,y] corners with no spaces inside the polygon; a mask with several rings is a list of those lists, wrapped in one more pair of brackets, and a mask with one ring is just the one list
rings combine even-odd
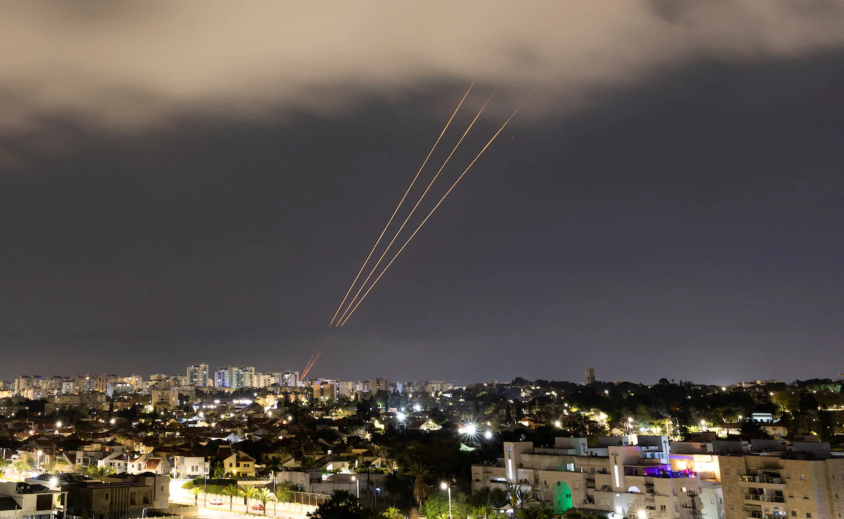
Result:
{"label": "whole cloudy night sky above the city skyline", "polygon": [[[770,19],[738,30],[723,22],[729,6],[752,3],[700,14],[631,2],[650,20],[638,22],[610,4],[502,7],[458,38],[467,7],[436,26],[452,32],[433,49],[408,21],[336,74],[333,54],[400,8],[340,29],[343,13],[300,13],[317,32],[282,63],[258,46],[264,36],[249,41],[266,13],[243,14],[253,30],[202,32],[224,9],[191,25],[165,3],[18,8],[41,30],[0,22],[11,63],[0,72],[0,377],[173,374],[198,361],[301,370],[316,351],[312,375],[341,379],[580,381],[588,366],[645,382],[836,377],[844,7],[771,2]],[[436,16],[425,9],[416,18]],[[558,37],[577,21],[551,27],[543,9],[600,30]],[[155,54],[180,23],[192,38]],[[237,31],[246,41],[226,40]],[[138,43],[149,35],[161,41]],[[348,324],[329,329],[473,78],[424,185],[500,91],[420,216],[537,92]]]}

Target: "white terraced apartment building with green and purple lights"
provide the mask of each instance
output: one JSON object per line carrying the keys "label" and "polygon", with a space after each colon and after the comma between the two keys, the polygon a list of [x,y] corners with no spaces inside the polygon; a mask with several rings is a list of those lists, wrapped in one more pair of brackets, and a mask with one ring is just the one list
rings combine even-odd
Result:
{"label": "white terraced apartment building with green and purple lights", "polygon": [[472,466],[473,489],[519,485],[555,513],[585,508],[616,518],[717,517],[711,516],[714,503],[704,510],[690,458],[672,456],[667,437],[636,446],[621,438],[601,441],[598,447],[587,446],[586,438],[556,438],[549,447],[505,442],[495,463]]}

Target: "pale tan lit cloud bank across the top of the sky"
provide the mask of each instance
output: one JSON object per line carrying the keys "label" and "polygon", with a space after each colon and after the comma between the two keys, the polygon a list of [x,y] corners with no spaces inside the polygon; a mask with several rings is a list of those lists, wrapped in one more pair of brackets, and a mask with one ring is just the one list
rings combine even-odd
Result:
{"label": "pale tan lit cloud bank across the top of the sky", "polygon": [[[47,149],[68,137],[45,119],[123,132],[196,114],[330,114],[372,94],[474,78],[504,89],[493,107],[502,112],[508,95],[538,87],[532,113],[548,116],[596,86],[691,58],[753,61],[844,43],[844,7],[825,0],[33,1],[3,10],[0,85],[12,102],[0,131],[35,132]],[[7,145],[3,154],[8,164],[27,153]]]}

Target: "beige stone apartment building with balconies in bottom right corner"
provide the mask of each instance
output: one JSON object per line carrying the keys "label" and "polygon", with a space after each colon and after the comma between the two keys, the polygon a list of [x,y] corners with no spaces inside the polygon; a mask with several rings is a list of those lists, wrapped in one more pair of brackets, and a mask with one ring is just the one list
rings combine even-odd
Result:
{"label": "beige stone apartment building with balconies in bottom right corner", "polygon": [[721,456],[727,519],[844,516],[844,457],[830,445],[795,441],[788,451]]}

